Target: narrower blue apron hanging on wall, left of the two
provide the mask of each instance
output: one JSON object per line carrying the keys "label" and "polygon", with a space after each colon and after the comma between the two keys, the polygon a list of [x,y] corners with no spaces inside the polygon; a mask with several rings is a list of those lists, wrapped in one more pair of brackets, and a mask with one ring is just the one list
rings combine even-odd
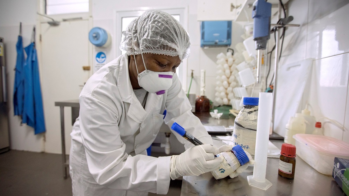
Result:
{"label": "narrower blue apron hanging on wall, left of the two", "polygon": [[15,68],[15,82],[13,88],[13,108],[15,115],[23,114],[23,99],[24,99],[24,73],[23,65],[25,63],[23,41],[22,41],[22,23],[20,23],[20,34],[16,44],[17,61]]}

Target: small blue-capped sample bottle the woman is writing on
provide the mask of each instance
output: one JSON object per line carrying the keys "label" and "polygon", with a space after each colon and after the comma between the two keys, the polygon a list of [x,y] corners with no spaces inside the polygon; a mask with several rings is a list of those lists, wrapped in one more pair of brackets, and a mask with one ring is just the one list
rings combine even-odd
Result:
{"label": "small blue-capped sample bottle the woman is writing on", "polygon": [[211,174],[215,177],[216,180],[227,177],[238,167],[245,165],[248,161],[250,161],[247,157],[247,154],[240,145],[234,146],[231,149],[231,152],[221,152],[217,154],[217,157],[220,156],[224,157],[223,162],[217,169],[211,171]]}

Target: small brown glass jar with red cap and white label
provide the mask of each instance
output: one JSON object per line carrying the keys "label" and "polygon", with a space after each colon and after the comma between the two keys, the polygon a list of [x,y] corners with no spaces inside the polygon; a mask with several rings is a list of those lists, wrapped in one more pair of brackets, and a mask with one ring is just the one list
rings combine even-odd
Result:
{"label": "small brown glass jar with red cap and white label", "polygon": [[292,144],[282,144],[279,160],[279,175],[287,178],[295,178],[296,169],[296,146]]}

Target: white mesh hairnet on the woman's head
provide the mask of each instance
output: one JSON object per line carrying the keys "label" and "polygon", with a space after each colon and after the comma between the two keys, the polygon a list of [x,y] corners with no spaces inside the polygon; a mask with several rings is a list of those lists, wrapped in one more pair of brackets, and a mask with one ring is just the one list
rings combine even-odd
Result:
{"label": "white mesh hairnet on the woman's head", "polygon": [[190,53],[189,35],[170,14],[161,10],[148,10],[133,20],[122,31],[124,40],[120,49],[127,55],[153,53],[188,58]]}

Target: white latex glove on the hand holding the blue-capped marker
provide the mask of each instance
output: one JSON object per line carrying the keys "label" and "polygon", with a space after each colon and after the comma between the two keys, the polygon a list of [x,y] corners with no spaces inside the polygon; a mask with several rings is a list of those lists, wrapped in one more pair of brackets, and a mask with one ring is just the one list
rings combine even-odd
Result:
{"label": "white latex glove on the hand holding the blue-capped marker", "polygon": [[[225,147],[227,148],[227,147]],[[193,146],[179,155],[173,155],[170,161],[171,179],[179,176],[200,175],[218,168],[223,157],[214,157],[217,150],[210,144]]]}

